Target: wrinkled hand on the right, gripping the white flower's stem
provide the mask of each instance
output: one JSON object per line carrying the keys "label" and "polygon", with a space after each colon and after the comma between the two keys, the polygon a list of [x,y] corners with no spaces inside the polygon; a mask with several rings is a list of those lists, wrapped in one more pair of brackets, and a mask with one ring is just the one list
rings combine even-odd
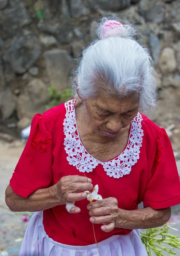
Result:
{"label": "wrinkled hand on the right, gripping the white flower's stem", "polygon": [[101,230],[110,232],[117,227],[119,219],[119,208],[116,198],[105,198],[102,201],[96,201],[88,204],[90,221],[94,224],[103,224]]}

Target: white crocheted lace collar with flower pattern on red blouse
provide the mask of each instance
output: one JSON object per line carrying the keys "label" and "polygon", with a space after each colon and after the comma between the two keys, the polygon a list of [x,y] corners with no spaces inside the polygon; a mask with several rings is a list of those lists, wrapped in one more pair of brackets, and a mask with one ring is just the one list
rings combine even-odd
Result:
{"label": "white crocheted lace collar with flower pattern on red blouse", "polygon": [[76,166],[80,172],[92,172],[101,164],[107,175],[114,178],[123,177],[131,172],[131,167],[137,163],[140,147],[143,141],[141,129],[142,116],[140,113],[131,121],[129,141],[125,150],[112,160],[101,162],[92,157],[80,141],[77,131],[76,115],[74,109],[75,99],[65,103],[66,118],[64,119],[65,151],[70,165]]}

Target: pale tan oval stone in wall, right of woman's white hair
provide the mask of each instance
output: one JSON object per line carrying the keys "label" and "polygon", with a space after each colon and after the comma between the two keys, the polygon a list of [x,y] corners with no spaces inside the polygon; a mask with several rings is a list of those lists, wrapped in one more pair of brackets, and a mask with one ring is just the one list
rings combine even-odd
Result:
{"label": "pale tan oval stone in wall, right of woman's white hair", "polygon": [[177,63],[174,55],[174,50],[170,47],[163,49],[160,56],[160,70],[163,74],[172,73],[176,70]]}

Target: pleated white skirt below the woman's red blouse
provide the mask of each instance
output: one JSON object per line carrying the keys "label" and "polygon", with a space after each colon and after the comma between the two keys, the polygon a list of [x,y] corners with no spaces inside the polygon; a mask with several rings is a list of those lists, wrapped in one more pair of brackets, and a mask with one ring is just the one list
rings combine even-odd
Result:
{"label": "pleated white skirt below the woman's red blouse", "polygon": [[[139,230],[126,236],[111,236],[99,242],[98,247],[100,256],[147,256]],[[99,253],[96,244],[72,246],[49,238],[43,226],[43,211],[40,211],[34,212],[29,221],[19,256],[99,256]]]}

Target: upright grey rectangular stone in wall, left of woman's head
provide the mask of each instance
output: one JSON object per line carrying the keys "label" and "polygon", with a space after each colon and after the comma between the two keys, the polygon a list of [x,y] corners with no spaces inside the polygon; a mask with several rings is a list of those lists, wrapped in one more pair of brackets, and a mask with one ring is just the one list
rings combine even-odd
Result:
{"label": "upright grey rectangular stone in wall, left of woman's head", "polygon": [[51,86],[62,92],[67,87],[69,55],[66,50],[50,50],[44,53]]}

